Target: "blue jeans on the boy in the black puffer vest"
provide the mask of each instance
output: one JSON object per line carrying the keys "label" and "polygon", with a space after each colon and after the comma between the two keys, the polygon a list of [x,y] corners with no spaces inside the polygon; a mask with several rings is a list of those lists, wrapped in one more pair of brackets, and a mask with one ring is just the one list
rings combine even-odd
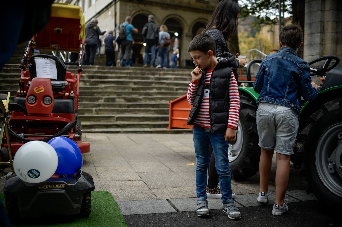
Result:
{"label": "blue jeans on the boy in the black puffer vest", "polygon": [[231,171],[229,170],[228,142],[224,133],[205,132],[203,127],[194,125],[194,145],[196,153],[196,196],[207,198],[207,168],[209,163],[209,143],[211,143],[215,167],[219,174],[222,202],[232,198]]}

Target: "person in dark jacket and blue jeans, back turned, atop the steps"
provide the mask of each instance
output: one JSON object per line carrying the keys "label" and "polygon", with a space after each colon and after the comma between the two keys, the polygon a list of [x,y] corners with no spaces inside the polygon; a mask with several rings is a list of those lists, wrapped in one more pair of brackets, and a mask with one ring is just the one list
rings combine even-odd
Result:
{"label": "person in dark jacket and blue jeans, back turned, atop the steps", "polygon": [[154,16],[148,16],[148,22],[144,25],[142,34],[144,36],[145,46],[145,58],[144,66],[147,67],[148,63],[148,53],[151,53],[150,67],[154,68],[154,62],[156,60],[156,48],[158,46],[158,26],[154,22]]}

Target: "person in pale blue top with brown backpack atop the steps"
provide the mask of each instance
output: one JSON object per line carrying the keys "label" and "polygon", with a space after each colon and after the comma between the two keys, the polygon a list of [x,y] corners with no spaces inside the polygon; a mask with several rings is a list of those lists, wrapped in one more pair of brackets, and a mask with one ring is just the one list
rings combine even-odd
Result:
{"label": "person in pale blue top with brown backpack atop the steps", "polygon": [[159,30],[158,65],[156,68],[163,66],[163,69],[166,69],[169,59],[170,34],[166,25],[160,25]]}

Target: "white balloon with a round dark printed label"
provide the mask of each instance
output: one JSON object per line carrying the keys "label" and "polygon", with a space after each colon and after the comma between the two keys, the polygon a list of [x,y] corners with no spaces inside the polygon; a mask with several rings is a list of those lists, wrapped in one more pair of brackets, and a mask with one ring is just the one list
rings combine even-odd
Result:
{"label": "white balloon with a round dark printed label", "polygon": [[49,179],[58,166],[55,149],[43,141],[30,141],[21,146],[14,155],[15,174],[23,181],[40,183]]}

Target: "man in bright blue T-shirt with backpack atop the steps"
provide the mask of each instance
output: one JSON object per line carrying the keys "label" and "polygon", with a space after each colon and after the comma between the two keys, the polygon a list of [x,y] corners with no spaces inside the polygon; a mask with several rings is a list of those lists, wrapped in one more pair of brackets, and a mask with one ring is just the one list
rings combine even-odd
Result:
{"label": "man in bright blue T-shirt with backpack atop the steps", "polygon": [[[125,59],[126,62],[129,62],[131,50],[132,50],[132,32],[138,33],[138,29],[134,28],[133,25],[131,25],[132,18],[130,16],[127,16],[125,19],[125,22],[123,22],[119,26],[119,37],[121,41],[121,54],[119,56],[119,60]],[[123,66],[126,66],[123,65]]]}

